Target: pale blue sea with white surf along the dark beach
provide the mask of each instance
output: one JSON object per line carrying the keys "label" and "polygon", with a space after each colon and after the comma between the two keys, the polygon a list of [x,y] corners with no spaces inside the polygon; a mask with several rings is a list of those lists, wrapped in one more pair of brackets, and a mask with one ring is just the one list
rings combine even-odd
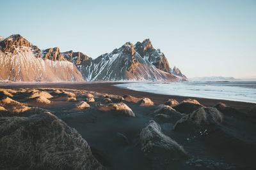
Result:
{"label": "pale blue sea with white surf along the dark beach", "polygon": [[256,81],[130,82],[116,86],[155,94],[256,103]]}

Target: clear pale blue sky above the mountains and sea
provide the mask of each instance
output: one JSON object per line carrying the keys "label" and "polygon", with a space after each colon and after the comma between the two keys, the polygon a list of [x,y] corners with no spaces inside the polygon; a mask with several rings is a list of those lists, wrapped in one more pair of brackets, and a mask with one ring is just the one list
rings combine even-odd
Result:
{"label": "clear pale blue sky above the mountains and sea", "polygon": [[0,36],[95,58],[150,38],[188,77],[256,78],[256,1],[0,0]]}

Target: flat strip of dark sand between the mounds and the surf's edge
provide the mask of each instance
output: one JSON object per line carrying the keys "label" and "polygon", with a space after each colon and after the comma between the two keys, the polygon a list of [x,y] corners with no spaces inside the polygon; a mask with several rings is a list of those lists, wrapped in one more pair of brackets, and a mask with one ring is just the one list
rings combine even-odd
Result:
{"label": "flat strip of dark sand between the mounds and the surf's edge", "polygon": [[78,89],[78,90],[90,90],[93,92],[114,94],[118,96],[131,95],[134,97],[148,97],[156,104],[164,104],[168,99],[173,98],[179,102],[184,99],[192,98],[196,99],[199,103],[204,106],[215,106],[217,103],[224,103],[232,108],[238,110],[246,110],[255,103],[246,103],[241,101],[228,101],[223,99],[208,99],[202,97],[189,97],[189,96],[174,96],[166,94],[155,94],[151,92],[141,92],[131,89],[125,89],[116,87],[114,85],[127,83],[127,82],[115,82],[115,81],[83,81],[83,82],[45,82],[45,83],[0,83],[0,88],[3,89],[19,89],[19,88],[60,88],[60,89]]}

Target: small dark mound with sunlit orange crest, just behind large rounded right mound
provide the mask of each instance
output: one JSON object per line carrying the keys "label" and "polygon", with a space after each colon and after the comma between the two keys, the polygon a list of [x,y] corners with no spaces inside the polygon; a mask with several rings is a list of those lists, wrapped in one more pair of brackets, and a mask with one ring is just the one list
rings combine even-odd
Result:
{"label": "small dark mound with sunlit orange crest, just behind large rounded right mound", "polygon": [[198,102],[196,101],[183,101],[180,104],[177,104],[175,106],[173,106],[172,108],[175,109],[176,111],[179,111],[180,113],[192,113],[195,110],[198,110],[199,108],[202,108],[203,105],[202,104],[198,104]]}

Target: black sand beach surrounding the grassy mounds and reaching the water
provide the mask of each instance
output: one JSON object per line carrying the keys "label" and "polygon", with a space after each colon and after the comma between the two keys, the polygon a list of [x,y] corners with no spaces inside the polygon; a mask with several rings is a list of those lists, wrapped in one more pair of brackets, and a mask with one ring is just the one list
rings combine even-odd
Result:
{"label": "black sand beach surrounding the grassy mounds and reaching the water", "polygon": [[[29,107],[49,110],[68,126],[75,128],[90,145],[93,156],[106,169],[254,169],[256,167],[254,161],[256,118],[255,114],[248,111],[255,104],[137,92],[120,89],[113,86],[115,84],[112,82],[3,83],[0,88],[27,89],[23,90],[24,92],[16,93],[17,95],[14,95],[12,99],[26,103]],[[28,89],[48,92],[53,96],[49,99],[51,103],[40,104],[31,99],[28,100],[28,96],[31,95]],[[62,96],[56,93],[56,90],[60,90]],[[71,101],[70,96],[68,97],[70,101],[68,101],[67,97],[63,96],[64,91],[67,92],[66,94],[73,93],[76,101]],[[92,94],[95,101],[88,102],[86,98],[88,93]],[[154,104],[141,106],[137,102],[122,99],[122,96],[125,95],[138,98],[148,97]],[[126,104],[131,108],[135,117],[118,115],[118,111],[100,110],[100,107],[108,106],[104,103],[106,98],[111,99],[114,104],[120,102]],[[215,122],[209,120],[209,124],[196,127],[198,128],[196,131],[190,131],[189,126],[186,126],[185,130],[179,129],[179,127],[176,130],[175,124],[179,118],[166,118],[166,115],[162,117],[163,114],[160,115],[161,117],[156,116],[157,106],[164,104],[170,98],[176,99],[179,103],[184,99],[192,98],[207,107],[224,103],[231,108],[227,107],[221,110],[220,107],[221,115],[223,114],[221,124],[216,123],[216,120],[214,120]],[[90,108],[77,110],[77,104],[86,100],[90,104]],[[173,106],[173,108],[175,107],[179,110],[179,107]],[[122,114],[127,114],[127,112],[122,112]],[[180,115],[181,118],[188,114]],[[160,125],[161,131],[154,129],[154,126],[152,126],[153,129],[148,127],[151,128],[150,131],[154,131],[152,134],[159,136],[152,139],[146,147],[143,144],[145,141],[141,131],[150,125],[148,124],[150,120],[156,121]],[[160,134],[155,134],[155,131]],[[157,141],[158,138],[159,141]],[[164,146],[164,141],[170,141],[170,138],[184,148],[185,157],[177,157],[179,154],[182,155],[182,152],[175,151],[169,155],[166,149],[162,150],[161,146]],[[156,150],[150,150],[151,145],[160,147],[157,146]],[[145,149],[148,152],[145,152]]]}

